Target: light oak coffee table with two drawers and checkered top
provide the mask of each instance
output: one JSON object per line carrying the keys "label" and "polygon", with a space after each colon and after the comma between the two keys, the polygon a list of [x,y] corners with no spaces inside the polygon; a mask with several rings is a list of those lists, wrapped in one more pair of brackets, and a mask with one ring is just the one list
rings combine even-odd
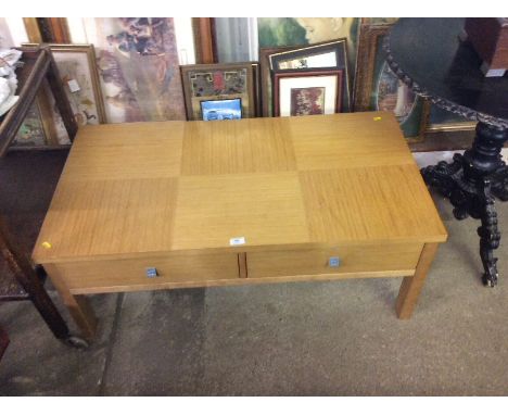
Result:
{"label": "light oak coffee table with two drawers and checkered top", "polygon": [[91,338],[86,294],[404,277],[446,230],[390,113],[88,126],[33,259]]}

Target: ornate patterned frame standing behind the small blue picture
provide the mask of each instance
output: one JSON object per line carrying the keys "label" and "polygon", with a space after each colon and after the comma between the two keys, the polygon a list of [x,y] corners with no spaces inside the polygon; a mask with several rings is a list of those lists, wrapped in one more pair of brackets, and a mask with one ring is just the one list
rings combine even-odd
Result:
{"label": "ornate patterned frame standing behind the small blue picture", "polygon": [[180,66],[188,120],[203,120],[202,101],[236,100],[243,117],[256,116],[251,62]]}

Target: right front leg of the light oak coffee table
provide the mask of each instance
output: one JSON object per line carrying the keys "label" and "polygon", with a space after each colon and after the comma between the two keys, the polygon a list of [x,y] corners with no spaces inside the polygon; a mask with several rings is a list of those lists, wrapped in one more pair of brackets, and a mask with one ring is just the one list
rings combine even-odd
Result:
{"label": "right front leg of the light oak coffee table", "polygon": [[407,319],[411,317],[412,310],[415,310],[416,302],[423,288],[427,273],[434,260],[436,251],[437,243],[426,243],[421,251],[420,259],[418,260],[415,275],[403,279],[395,307],[398,318]]}

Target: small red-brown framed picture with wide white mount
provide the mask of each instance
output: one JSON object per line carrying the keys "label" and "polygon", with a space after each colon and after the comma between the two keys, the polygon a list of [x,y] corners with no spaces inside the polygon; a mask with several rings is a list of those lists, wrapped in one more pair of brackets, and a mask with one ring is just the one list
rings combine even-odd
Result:
{"label": "small red-brown framed picture with wide white mount", "polygon": [[343,71],[281,71],[274,74],[276,116],[341,112]]}

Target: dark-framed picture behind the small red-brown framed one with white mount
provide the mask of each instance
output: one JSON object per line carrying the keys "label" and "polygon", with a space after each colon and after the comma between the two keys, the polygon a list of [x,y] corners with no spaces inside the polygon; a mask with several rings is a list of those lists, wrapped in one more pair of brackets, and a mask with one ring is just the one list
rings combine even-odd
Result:
{"label": "dark-framed picture behind the small red-brown framed one with white mount", "polygon": [[335,68],[342,71],[342,111],[351,110],[350,80],[347,71],[346,39],[338,39],[330,42],[321,42],[289,51],[276,52],[268,55],[270,70],[318,70]]}

